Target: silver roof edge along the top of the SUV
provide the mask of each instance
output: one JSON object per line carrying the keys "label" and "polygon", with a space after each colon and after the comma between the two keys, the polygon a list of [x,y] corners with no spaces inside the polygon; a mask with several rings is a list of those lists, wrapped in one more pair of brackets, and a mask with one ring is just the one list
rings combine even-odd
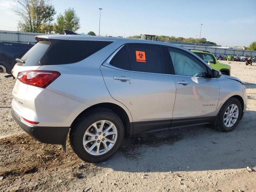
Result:
{"label": "silver roof edge along the top of the SUV", "polygon": [[124,43],[144,43],[144,44],[157,44],[172,46],[180,48],[182,50],[188,51],[188,49],[183,48],[182,46],[160,42],[160,41],[151,41],[151,40],[141,40],[141,39],[130,39],[130,38],[116,38],[116,37],[106,37],[106,36],[91,36],[91,35],[62,35],[62,34],[52,34],[52,35],[39,35],[36,36],[39,39],[58,39],[58,40],[92,40],[92,41],[113,41],[113,42],[122,42]]}

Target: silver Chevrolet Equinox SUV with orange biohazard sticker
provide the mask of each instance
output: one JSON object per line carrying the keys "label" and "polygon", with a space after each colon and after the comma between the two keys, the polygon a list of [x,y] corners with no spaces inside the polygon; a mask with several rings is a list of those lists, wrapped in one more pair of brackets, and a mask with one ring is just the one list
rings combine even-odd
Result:
{"label": "silver Chevrolet Equinox SUV with orange biohazard sticker", "polygon": [[84,161],[112,156],[124,136],[213,124],[233,130],[246,110],[244,83],[164,42],[81,35],[36,36],[17,59],[12,116],[40,142]]}

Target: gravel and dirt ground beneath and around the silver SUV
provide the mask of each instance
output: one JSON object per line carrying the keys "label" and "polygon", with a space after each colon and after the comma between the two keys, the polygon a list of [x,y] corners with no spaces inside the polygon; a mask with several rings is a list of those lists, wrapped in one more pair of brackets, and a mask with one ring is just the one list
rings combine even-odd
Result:
{"label": "gravel and dirt ground beneath and around the silver SUV", "polygon": [[0,191],[256,191],[256,63],[230,65],[248,94],[234,131],[196,126],[142,134],[99,164],[82,162],[69,144],[64,153],[21,130],[10,113],[15,82],[0,74]]}

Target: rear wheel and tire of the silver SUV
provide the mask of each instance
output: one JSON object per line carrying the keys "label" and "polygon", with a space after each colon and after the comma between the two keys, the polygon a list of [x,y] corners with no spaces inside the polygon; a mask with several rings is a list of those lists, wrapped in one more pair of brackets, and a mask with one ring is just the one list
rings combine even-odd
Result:
{"label": "rear wheel and tire of the silver SUV", "polygon": [[70,130],[70,145],[86,162],[102,162],[120,147],[124,125],[118,115],[108,109],[96,109],[78,120]]}

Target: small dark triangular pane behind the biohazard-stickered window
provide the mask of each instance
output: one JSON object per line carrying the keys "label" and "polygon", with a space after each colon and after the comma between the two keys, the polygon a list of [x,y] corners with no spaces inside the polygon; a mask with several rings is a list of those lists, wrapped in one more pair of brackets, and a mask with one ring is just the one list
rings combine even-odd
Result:
{"label": "small dark triangular pane behind the biohazard-stickered window", "polygon": [[130,70],[129,56],[126,45],[124,45],[112,58],[110,65],[120,69]]}

